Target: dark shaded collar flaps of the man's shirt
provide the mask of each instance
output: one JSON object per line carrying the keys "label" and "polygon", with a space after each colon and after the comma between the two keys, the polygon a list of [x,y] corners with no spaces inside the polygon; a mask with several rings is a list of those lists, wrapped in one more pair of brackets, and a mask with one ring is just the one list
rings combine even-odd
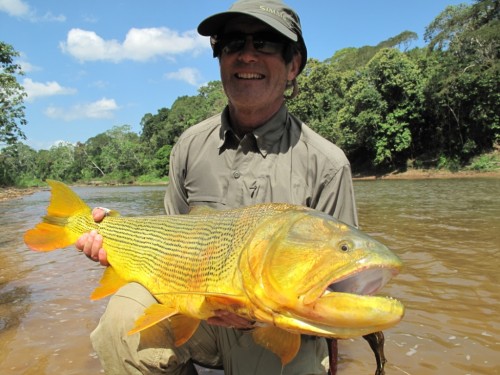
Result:
{"label": "dark shaded collar flaps of the man's shirt", "polygon": [[[269,119],[264,125],[255,129],[251,134],[254,136],[257,148],[262,156],[266,156],[274,145],[283,136],[288,123],[288,109],[283,104],[276,114]],[[226,107],[221,115],[220,143],[219,149],[228,146],[230,142],[238,139],[229,122],[229,109]]]}

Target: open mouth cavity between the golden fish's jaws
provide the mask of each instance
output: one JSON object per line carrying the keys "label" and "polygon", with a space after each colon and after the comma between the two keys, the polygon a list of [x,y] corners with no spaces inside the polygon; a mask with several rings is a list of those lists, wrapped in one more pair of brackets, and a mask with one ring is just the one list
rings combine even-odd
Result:
{"label": "open mouth cavity between the golden fish's jaws", "polygon": [[358,270],[329,284],[323,294],[330,292],[373,295],[397,274],[392,268],[374,267]]}

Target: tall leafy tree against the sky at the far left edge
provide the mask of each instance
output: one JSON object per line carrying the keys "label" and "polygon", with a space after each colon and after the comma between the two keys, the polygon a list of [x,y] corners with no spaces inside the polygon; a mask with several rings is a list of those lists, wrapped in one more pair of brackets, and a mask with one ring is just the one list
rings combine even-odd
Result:
{"label": "tall leafy tree against the sky at the far left edge", "polygon": [[23,75],[14,59],[19,53],[7,43],[0,42],[0,144],[13,144],[26,139],[20,126],[26,125],[24,98],[26,92],[17,81]]}

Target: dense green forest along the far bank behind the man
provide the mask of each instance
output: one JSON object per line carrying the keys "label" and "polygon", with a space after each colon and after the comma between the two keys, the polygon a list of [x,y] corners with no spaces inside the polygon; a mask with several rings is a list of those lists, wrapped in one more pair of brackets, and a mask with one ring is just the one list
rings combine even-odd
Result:
{"label": "dense green forest along the far bank behind the man", "polygon": [[[404,31],[376,46],[309,59],[298,79],[300,94],[287,105],[340,146],[355,173],[457,170],[500,144],[499,36],[498,0],[449,6],[426,28],[422,48],[410,49],[417,35]],[[145,114],[140,134],[129,125],[115,126],[82,143],[38,151],[22,143],[16,128],[23,113],[10,123],[17,133],[11,128],[9,137],[2,114],[0,186],[40,185],[47,178],[164,179],[179,135],[225,105],[221,82],[212,81],[171,108]]]}

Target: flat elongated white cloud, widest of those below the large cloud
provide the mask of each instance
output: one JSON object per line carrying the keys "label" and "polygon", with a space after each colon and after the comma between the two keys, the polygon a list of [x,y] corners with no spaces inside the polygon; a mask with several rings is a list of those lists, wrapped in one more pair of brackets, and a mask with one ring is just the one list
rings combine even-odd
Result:
{"label": "flat elongated white cloud, widest of those below the large cloud", "polygon": [[108,119],[113,117],[118,108],[114,99],[102,98],[93,103],[77,104],[69,109],[51,106],[45,110],[45,115],[64,121]]}

